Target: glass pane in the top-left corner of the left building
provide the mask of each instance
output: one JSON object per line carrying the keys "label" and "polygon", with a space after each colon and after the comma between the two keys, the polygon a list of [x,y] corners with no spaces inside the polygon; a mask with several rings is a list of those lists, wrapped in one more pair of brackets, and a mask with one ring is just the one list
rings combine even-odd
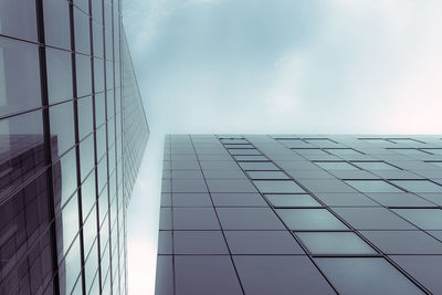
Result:
{"label": "glass pane in the top-left corner of the left building", "polygon": [[0,1],[0,33],[36,41],[34,0]]}

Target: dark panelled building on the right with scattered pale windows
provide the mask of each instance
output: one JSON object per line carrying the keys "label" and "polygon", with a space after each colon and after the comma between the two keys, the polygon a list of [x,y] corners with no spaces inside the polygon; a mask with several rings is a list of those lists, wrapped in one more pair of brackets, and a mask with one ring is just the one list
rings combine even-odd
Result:
{"label": "dark panelled building on the right with scattered pale windows", "polygon": [[442,136],[172,135],[156,294],[440,294]]}

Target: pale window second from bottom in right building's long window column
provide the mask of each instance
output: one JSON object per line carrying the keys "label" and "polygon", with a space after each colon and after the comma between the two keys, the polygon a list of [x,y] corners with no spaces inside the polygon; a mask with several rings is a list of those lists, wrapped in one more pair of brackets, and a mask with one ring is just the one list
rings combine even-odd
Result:
{"label": "pale window second from bottom in right building's long window column", "polygon": [[297,232],[312,254],[376,254],[377,252],[354,232]]}

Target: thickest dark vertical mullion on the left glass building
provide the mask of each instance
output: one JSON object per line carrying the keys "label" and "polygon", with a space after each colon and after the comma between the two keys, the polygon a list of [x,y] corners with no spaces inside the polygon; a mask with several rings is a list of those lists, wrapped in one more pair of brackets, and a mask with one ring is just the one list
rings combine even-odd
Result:
{"label": "thickest dark vertical mullion on the left glass building", "polygon": [[[41,102],[42,106],[49,105],[49,93],[48,93],[48,70],[46,70],[46,52],[45,52],[45,36],[44,36],[44,14],[43,14],[43,2],[35,0],[36,11],[36,28],[39,38],[39,66],[40,66],[40,84],[41,84]],[[56,229],[55,229],[55,197],[53,188],[53,176],[52,176],[52,147],[51,147],[51,127],[49,108],[42,109],[43,117],[43,136],[44,136],[44,154],[46,169],[46,186],[48,186],[48,204],[49,204],[49,219],[50,219],[50,240],[51,240],[51,261],[53,267],[52,286],[54,294],[60,294],[60,281],[59,281],[59,257],[57,257],[57,241],[56,241]],[[50,283],[51,284],[51,283]],[[46,286],[48,287],[48,286]]]}

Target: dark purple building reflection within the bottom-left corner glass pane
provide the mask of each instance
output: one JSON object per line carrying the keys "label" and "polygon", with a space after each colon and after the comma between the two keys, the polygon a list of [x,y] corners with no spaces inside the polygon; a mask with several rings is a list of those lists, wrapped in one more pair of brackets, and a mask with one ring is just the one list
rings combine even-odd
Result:
{"label": "dark purple building reflection within the bottom-left corner glass pane", "polygon": [[[44,172],[0,202],[0,294],[38,294],[53,276],[48,201]],[[32,281],[17,280],[30,276]]]}

